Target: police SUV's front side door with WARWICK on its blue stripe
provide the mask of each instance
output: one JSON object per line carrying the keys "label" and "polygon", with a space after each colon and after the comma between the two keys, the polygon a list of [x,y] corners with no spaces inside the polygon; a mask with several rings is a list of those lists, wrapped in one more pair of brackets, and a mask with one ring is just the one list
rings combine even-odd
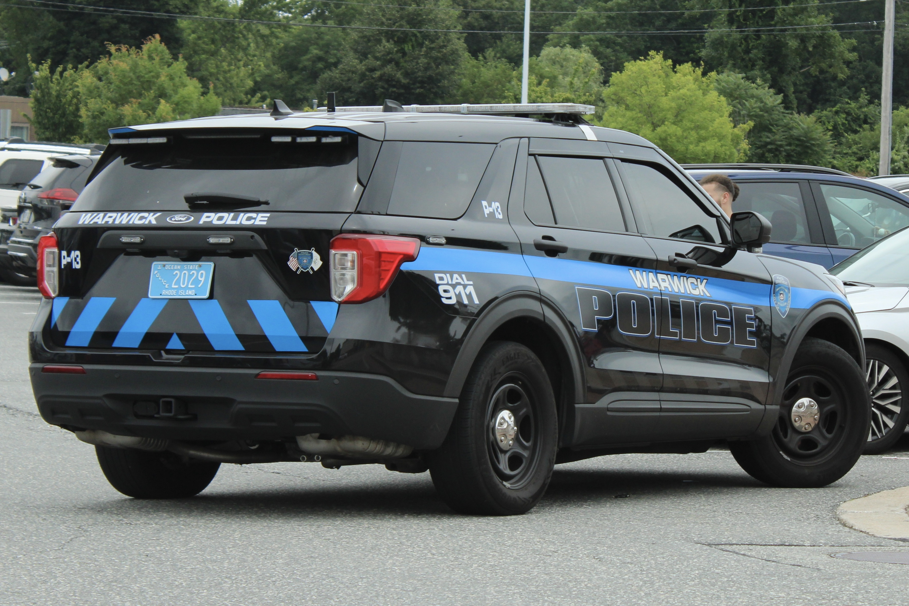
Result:
{"label": "police SUV's front side door with WARWICK on its blue stripe", "polygon": [[622,181],[656,255],[641,286],[661,318],[661,432],[671,440],[752,432],[769,386],[770,275],[754,254],[723,245],[717,217],[671,166],[628,155]]}

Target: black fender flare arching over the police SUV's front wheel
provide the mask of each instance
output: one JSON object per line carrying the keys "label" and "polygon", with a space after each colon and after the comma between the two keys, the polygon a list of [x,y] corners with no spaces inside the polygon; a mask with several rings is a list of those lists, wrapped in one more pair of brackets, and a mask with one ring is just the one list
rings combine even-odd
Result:
{"label": "black fender flare arching over the police SUV's front wheel", "polygon": [[765,407],[764,418],[754,432],[755,436],[764,436],[773,430],[778,417],[780,402],[783,401],[785,379],[789,376],[789,369],[792,368],[795,352],[798,351],[799,346],[811,329],[814,328],[817,323],[828,318],[838,319],[849,327],[855,344],[858,347],[858,351],[860,352],[860,359],[855,362],[858,363],[860,368],[864,369],[864,338],[861,329],[858,327],[858,321],[855,319],[852,311],[846,308],[842,303],[831,300],[818,303],[811,308],[808,313],[804,314],[804,317],[795,326],[789,337],[788,343],[785,345],[779,366],[776,369],[776,376],[771,377],[770,380],[770,392],[767,394],[767,405]]}

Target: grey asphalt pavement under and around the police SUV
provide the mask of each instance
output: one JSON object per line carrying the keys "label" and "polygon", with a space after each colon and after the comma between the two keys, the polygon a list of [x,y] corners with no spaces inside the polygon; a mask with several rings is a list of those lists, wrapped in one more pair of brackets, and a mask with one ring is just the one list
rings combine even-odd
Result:
{"label": "grey asphalt pavement under and around the police SUV", "polygon": [[909,440],[824,489],[755,482],[729,452],[556,468],[520,517],[455,515],[429,474],[224,465],[194,499],[115,492],[45,424],[26,374],[35,290],[0,284],[0,604],[905,604],[909,551],[836,507],[909,484]]}

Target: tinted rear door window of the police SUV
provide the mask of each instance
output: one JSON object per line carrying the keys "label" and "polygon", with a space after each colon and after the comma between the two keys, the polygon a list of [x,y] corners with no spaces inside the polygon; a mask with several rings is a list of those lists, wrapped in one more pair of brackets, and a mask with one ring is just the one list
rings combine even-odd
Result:
{"label": "tinted rear door window of the police SUV", "polygon": [[[541,155],[555,224],[624,232],[624,219],[603,160]],[[542,205],[542,203],[537,203]]]}

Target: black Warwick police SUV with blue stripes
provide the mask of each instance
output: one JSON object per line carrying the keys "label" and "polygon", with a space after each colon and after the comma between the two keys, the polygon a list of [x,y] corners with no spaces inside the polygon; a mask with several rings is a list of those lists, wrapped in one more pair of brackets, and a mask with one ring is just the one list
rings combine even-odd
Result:
{"label": "black Warwick police SUV with blue stripes", "polygon": [[852,468],[854,313],[760,253],[761,215],[730,223],[584,105],[332,109],[114,129],[42,238],[35,398],[117,490],[368,462],[512,514],[610,453],[728,441],[779,486]]}

